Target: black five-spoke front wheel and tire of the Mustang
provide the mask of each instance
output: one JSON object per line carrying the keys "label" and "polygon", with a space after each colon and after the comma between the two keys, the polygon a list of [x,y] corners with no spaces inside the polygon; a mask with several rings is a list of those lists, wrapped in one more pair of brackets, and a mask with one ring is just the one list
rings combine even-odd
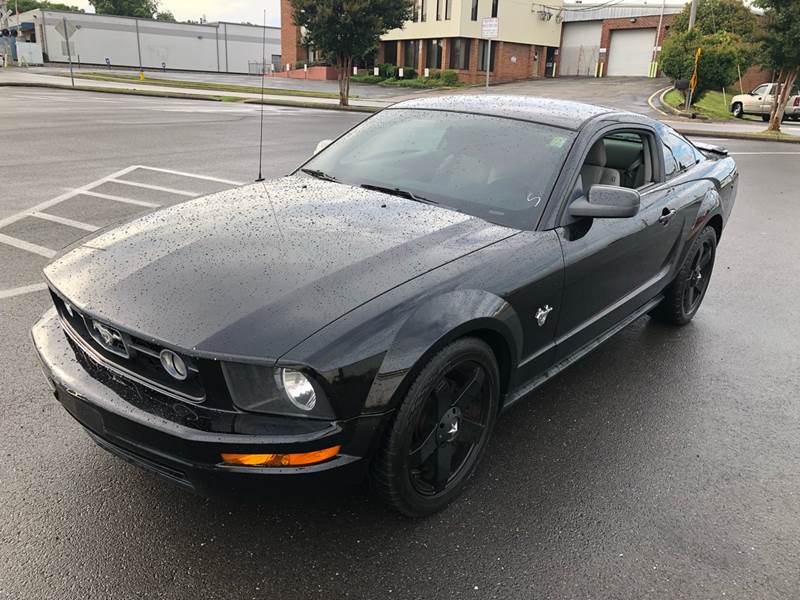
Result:
{"label": "black five-spoke front wheel and tire of the Mustang", "polygon": [[483,455],[497,418],[500,371],[492,349],[467,337],[420,371],[372,463],[373,489],[409,517],[457,498]]}

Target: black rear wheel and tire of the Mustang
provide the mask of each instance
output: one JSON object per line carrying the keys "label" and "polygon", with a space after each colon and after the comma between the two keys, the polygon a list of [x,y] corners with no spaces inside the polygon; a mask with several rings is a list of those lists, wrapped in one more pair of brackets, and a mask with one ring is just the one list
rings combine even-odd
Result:
{"label": "black rear wheel and tire of the Mustang", "polygon": [[692,242],[678,274],[665,290],[664,300],[650,316],[671,325],[689,323],[705,298],[716,255],[717,232],[706,227]]}

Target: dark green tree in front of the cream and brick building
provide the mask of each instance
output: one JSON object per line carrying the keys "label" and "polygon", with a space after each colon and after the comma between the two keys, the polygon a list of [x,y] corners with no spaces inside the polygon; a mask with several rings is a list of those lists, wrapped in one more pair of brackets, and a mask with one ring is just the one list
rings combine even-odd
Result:
{"label": "dark green tree in front of the cream and brick building", "polygon": [[367,55],[380,36],[411,18],[414,0],[291,0],[303,43],[317,48],[339,71],[339,103],[349,104],[353,58]]}

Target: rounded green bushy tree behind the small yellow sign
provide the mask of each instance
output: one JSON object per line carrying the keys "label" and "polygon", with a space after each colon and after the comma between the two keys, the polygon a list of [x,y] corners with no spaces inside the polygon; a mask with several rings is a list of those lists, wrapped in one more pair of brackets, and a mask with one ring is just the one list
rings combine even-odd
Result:
{"label": "rounded green bushy tree behind the small yellow sign", "polygon": [[737,65],[749,66],[747,44],[739,36],[730,33],[702,35],[698,30],[673,32],[664,40],[661,52],[661,70],[672,79],[689,79],[694,72],[694,57],[697,49],[702,55],[697,65],[697,88],[694,97],[700,99],[708,90],[718,90],[736,80]]}

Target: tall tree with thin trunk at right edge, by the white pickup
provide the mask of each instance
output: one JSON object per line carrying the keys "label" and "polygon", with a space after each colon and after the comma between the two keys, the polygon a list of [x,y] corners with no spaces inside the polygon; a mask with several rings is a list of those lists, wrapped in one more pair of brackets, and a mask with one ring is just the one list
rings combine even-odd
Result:
{"label": "tall tree with thin trunk at right edge, by the white pickup", "polygon": [[800,70],[800,0],[756,0],[764,9],[766,33],[762,40],[765,65],[778,71],[779,92],[774,94],[769,130],[780,131],[786,102]]}

